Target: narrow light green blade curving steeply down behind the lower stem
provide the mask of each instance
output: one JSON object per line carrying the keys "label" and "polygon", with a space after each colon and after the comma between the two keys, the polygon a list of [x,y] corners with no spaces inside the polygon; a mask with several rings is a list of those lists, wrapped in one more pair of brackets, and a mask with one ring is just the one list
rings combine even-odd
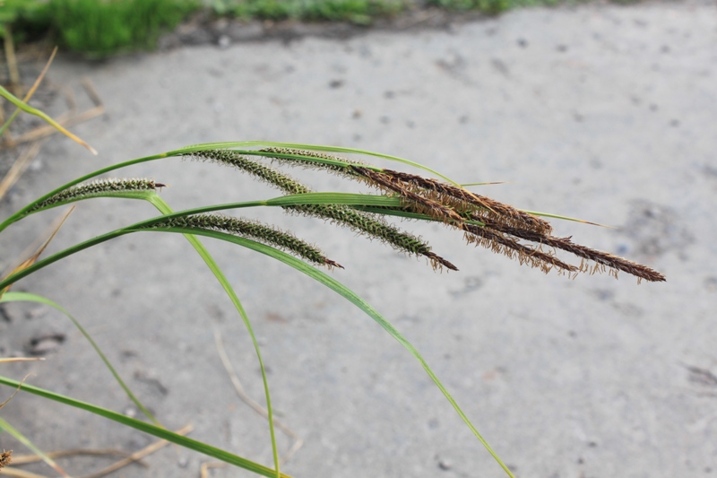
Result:
{"label": "narrow light green blade curving steeply down behind the lower stem", "polygon": [[[158,195],[153,195],[148,198],[148,201],[153,204],[160,213],[163,214],[171,214],[174,213],[172,209],[169,207],[167,203],[165,203],[162,198]],[[263,365],[262,360],[262,352],[259,350],[259,343],[256,340],[256,336],[254,334],[254,328],[251,325],[251,322],[249,321],[249,317],[246,315],[246,310],[244,310],[244,307],[241,304],[241,301],[239,300],[237,293],[234,291],[234,289],[229,284],[229,281],[227,280],[227,277],[224,275],[224,273],[221,271],[219,265],[216,263],[212,255],[209,254],[209,251],[204,248],[202,242],[199,241],[199,239],[195,238],[192,234],[185,234],[185,238],[189,241],[189,243],[194,247],[194,249],[197,251],[199,256],[202,257],[204,263],[209,267],[209,269],[212,271],[212,274],[214,274],[214,277],[217,278],[217,281],[219,281],[221,287],[224,289],[224,291],[229,296],[229,300],[234,304],[235,309],[237,309],[239,316],[241,316],[241,319],[244,321],[244,326],[246,326],[246,331],[249,333],[249,336],[252,339],[252,343],[254,344],[254,350],[256,352],[256,358],[259,360],[259,367],[262,371],[262,381],[263,381],[263,392],[266,397],[266,412],[268,415],[268,421],[269,421],[269,434],[272,438],[272,456],[274,460],[274,469],[276,470],[276,477],[279,478],[281,472],[280,472],[280,461],[279,461],[279,450],[276,446],[276,434],[274,431],[274,419],[273,419],[273,408],[272,408],[272,398],[269,394],[269,381],[266,377],[266,369]]]}

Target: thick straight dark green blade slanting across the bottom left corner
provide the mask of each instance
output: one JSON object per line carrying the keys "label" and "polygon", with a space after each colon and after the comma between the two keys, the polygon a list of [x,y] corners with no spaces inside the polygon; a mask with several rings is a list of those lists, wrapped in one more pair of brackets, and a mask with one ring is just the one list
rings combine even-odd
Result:
{"label": "thick straight dark green blade slanting across the bottom left corner", "polygon": [[[20,385],[20,382],[18,382],[17,380],[13,380],[12,378],[0,376],[0,384],[9,387],[18,387]],[[55,402],[60,404],[70,405],[90,413],[95,413],[96,415],[108,418],[109,420],[112,420],[114,422],[118,422],[127,427],[134,428],[135,430],[143,431],[144,433],[148,433],[160,439],[166,439],[171,443],[176,443],[180,447],[188,448],[199,453],[203,453],[206,456],[218,458],[223,462],[229,463],[229,465],[236,465],[255,474],[261,474],[263,476],[266,476],[267,478],[276,478],[276,472],[271,468],[259,465],[258,463],[255,463],[251,460],[234,455],[226,450],[222,450],[221,448],[212,447],[212,445],[207,445],[202,441],[183,437],[182,435],[177,435],[177,433],[173,431],[160,428],[156,425],[152,425],[151,423],[142,422],[135,418],[130,418],[121,413],[113,412],[111,410],[108,410],[107,408],[103,408],[95,404],[82,402],[81,400],[76,400],[72,397],[56,394],[55,392],[50,392],[49,390],[45,390],[39,387],[33,387],[31,385],[23,385],[22,391],[29,392],[33,395],[39,395],[43,398],[48,398],[50,400],[54,400]],[[289,476],[288,474],[281,474],[281,478],[291,478],[291,476]]]}

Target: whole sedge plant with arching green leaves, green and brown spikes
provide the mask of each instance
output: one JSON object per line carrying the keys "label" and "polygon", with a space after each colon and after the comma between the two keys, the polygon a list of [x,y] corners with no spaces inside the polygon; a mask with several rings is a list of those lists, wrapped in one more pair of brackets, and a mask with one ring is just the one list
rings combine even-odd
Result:
{"label": "whole sedge plant with arching green leaves, green and brown spikes", "polygon": [[[7,91],[0,91],[6,98]],[[21,100],[13,103],[21,106]],[[26,109],[38,114],[35,110]],[[351,154],[351,156],[348,156]],[[356,155],[362,156],[357,160]],[[160,188],[164,185],[151,178],[122,178],[117,173],[126,167],[148,161],[177,161],[189,159],[203,161],[207,168],[230,168],[242,180],[262,181],[274,187],[278,196],[269,199],[212,204],[175,212],[160,196]],[[375,159],[396,161],[418,167],[426,175],[410,174],[396,169],[378,167],[371,163]],[[315,169],[317,174],[332,174],[371,187],[376,194],[350,194],[311,190],[307,185],[290,175],[292,168]],[[110,175],[111,173],[111,175]],[[438,177],[436,179],[433,177]],[[326,227],[338,226],[354,230],[359,236],[378,239],[386,246],[410,256],[425,257],[428,265],[436,270],[458,271],[454,265],[434,251],[423,239],[409,231],[397,227],[391,220],[436,222],[443,225],[448,233],[461,234],[468,245],[488,248],[498,254],[515,259],[521,265],[538,267],[545,273],[550,271],[574,277],[578,274],[607,272],[617,277],[618,272],[633,275],[639,281],[662,282],[665,276],[645,265],[637,264],[622,257],[611,255],[594,248],[574,243],[570,238],[553,234],[552,225],[546,217],[560,217],[552,214],[531,213],[517,209],[510,204],[501,203],[487,196],[472,193],[450,178],[440,175],[433,169],[386,154],[368,152],[354,148],[319,146],[296,143],[271,143],[256,141],[239,141],[228,143],[204,143],[186,146],[170,152],[161,152],[131,161],[121,162],[103,169],[85,174],[80,178],[57,187],[48,194],[39,197],[22,209],[0,222],[0,233],[8,227],[22,222],[34,213],[46,211],[66,204],[75,204],[94,198],[124,198],[147,201],[154,205],[159,214],[149,219],[126,225],[117,230],[110,230],[95,238],[83,241],[56,254],[41,260],[33,260],[23,267],[16,268],[11,274],[0,280],[0,301],[30,300],[55,307],[73,320],[82,334],[90,341],[101,359],[106,363],[120,387],[145,413],[150,422],[143,422],[126,417],[94,404],[82,402],[69,396],[21,384],[11,378],[0,376],[0,383],[10,387],[21,387],[22,391],[43,396],[61,404],[81,408],[96,413],[125,426],[142,430],[146,433],[168,439],[182,447],[194,449],[205,455],[213,456],[231,465],[236,465],[255,474],[269,477],[287,476],[280,470],[273,430],[272,403],[268,380],[263,367],[262,355],[252,330],[251,321],[247,317],[238,295],[229,285],[221,272],[220,266],[203,247],[200,237],[226,241],[238,247],[248,248],[257,253],[270,256],[285,265],[289,265],[305,274],[307,278],[324,284],[337,292],[350,303],[363,310],[379,326],[392,335],[410,354],[419,361],[448,402],[454,407],[462,421],[473,432],[479,442],[488,450],[505,474],[514,476],[497,453],[483,439],[470,419],[463,413],[454,397],[419,351],[376,309],[367,301],[350,291],[334,276],[325,270],[341,269],[342,266],[319,248],[296,237],[290,231],[281,230],[271,224],[247,220],[238,216],[230,216],[225,211],[246,208],[281,207],[287,213],[315,217],[326,222]],[[563,218],[569,219],[569,218]],[[255,353],[260,363],[268,423],[272,438],[273,467],[267,467],[254,461],[230,453],[227,450],[189,439],[163,428],[132,394],[125,382],[119,377],[91,336],[82,328],[68,311],[59,304],[36,294],[13,292],[9,288],[22,278],[40,273],[40,271],[61,259],[71,256],[86,248],[91,248],[111,239],[135,233],[174,233],[182,234],[202,256],[205,264],[212,270],[227,293],[229,300],[243,320],[247,334],[254,341]],[[357,239],[359,240],[359,239]],[[571,260],[571,257],[575,260]],[[0,428],[9,430],[9,424],[0,422]],[[9,462],[10,456],[3,456]]]}

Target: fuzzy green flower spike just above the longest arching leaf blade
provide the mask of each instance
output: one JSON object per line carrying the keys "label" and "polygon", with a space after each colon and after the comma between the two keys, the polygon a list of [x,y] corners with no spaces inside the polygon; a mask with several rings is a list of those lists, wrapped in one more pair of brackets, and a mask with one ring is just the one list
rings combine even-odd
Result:
{"label": "fuzzy green flower spike just above the longest arching leaf blade", "polygon": [[328,265],[329,267],[343,267],[328,259],[315,246],[298,239],[293,234],[272,228],[261,222],[237,219],[221,214],[195,214],[191,216],[183,216],[166,221],[154,222],[149,226],[151,229],[156,228],[192,228],[205,230],[220,230],[229,232],[236,236],[247,239],[254,239],[263,244],[267,244],[274,248],[299,256],[307,261],[318,264]]}

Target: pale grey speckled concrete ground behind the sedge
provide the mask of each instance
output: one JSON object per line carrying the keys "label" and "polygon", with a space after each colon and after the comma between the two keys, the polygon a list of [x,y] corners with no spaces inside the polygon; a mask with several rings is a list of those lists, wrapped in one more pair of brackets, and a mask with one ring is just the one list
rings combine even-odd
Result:
{"label": "pale grey speckled concrete ground behind the sedge", "polygon": [[[320,244],[334,276],[425,354],[465,412],[522,478],[695,477],[717,473],[717,16],[713,3],[531,9],[450,30],[369,33],[221,49],[184,48],[102,64],[60,58],[52,79],[87,75],[108,115],[44,148],[3,214],[117,161],[190,143],[267,139],[357,146],[431,165],[523,208],[619,226],[557,222],[557,234],[642,261],[668,282],[571,281],[519,266],[433,226],[404,223],[461,268],[422,260],[323,222],[255,211]],[[393,165],[395,167],[395,165]],[[317,189],[355,190],[302,173]],[[177,160],[127,176],[171,185],[176,209],[272,197],[246,176]],[[4,265],[56,212],[3,234]],[[149,205],[88,201],[64,248],[151,217]],[[205,241],[244,300],[281,419],[306,441],[297,477],[504,476],[408,352],[358,309],[272,259]],[[16,284],[62,303],[170,428],[271,462],[263,419],[242,404],[213,342],[220,330],[250,395],[262,398],[244,327],[184,239],[134,235]],[[3,373],[136,413],[55,311],[6,309],[2,355],[67,339],[48,361]],[[3,396],[9,395],[4,390]],[[141,448],[151,438],[17,395],[3,416],[44,449]],[[290,440],[280,434],[281,450]],[[0,448],[22,447],[0,435]],[[198,476],[210,461],[165,448],[113,476]],[[73,474],[106,464],[63,462]],[[30,470],[44,468],[37,465]],[[47,473],[47,472],[46,472]],[[249,476],[229,468],[212,476]]]}

